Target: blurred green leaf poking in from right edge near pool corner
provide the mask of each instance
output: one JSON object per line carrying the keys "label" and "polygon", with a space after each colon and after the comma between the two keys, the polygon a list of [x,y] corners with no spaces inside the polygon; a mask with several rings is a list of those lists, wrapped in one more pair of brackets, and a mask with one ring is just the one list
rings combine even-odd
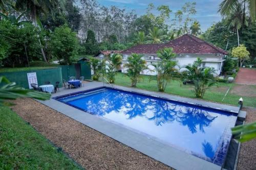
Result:
{"label": "blurred green leaf poking in from right edge near pool corner", "polygon": [[240,142],[245,142],[256,138],[256,122],[239,125],[231,129],[234,138],[238,139]]}

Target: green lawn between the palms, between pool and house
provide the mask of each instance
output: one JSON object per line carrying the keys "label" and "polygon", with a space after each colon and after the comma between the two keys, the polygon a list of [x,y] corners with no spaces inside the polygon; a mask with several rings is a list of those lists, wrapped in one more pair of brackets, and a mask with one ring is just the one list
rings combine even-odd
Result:
{"label": "green lawn between the palms, between pool and house", "polygon": [[[142,76],[142,79],[137,84],[137,87],[145,90],[158,91],[157,82],[155,80],[149,82],[148,79],[149,79],[148,76]],[[115,78],[115,84],[121,85],[121,86],[131,86],[131,81],[129,77],[118,72]],[[230,86],[231,88],[229,90],[229,93],[227,94],[224,101],[222,102],[222,99]],[[218,83],[218,87],[214,86],[206,91],[203,100],[207,100],[211,102],[226,103],[231,105],[238,105],[238,100],[241,98],[241,95],[236,93],[230,93],[230,91],[232,90],[232,88],[234,88],[234,86],[236,86],[236,84],[234,83],[232,84]],[[251,88],[252,90],[254,89],[256,90],[256,86],[252,86]],[[193,92],[193,85],[183,85],[180,80],[170,81],[167,84],[165,92],[184,96],[187,98],[195,98],[195,94]],[[245,106],[256,107],[255,96],[254,97],[246,96],[246,94],[244,94],[242,98],[244,99]]]}

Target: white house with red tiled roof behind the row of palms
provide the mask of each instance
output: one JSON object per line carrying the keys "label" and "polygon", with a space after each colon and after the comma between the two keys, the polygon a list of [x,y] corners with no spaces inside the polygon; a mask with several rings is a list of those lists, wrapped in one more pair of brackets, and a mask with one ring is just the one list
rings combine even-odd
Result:
{"label": "white house with red tiled roof behind the row of palms", "polygon": [[[225,61],[225,55],[228,53],[221,48],[207,43],[193,35],[184,34],[172,41],[162,44],[140,44],[133,46],[123,52],[122,72],[126,72],[123,64],[126,62],[127,57],[132,53],[142,54],[143,59],[146,60],[148,68],[154,69],[153,63],[159,62],[160,58],[157,57],[157,51],[164,47],[172,47],[176,53],[177,65],[182,68],[188,64],[193,64],[197,58],[203,60],[202,67],[213,67],[216,74],[220,75]],[[143,70],[141,74],[155,75],[156,72]]]}

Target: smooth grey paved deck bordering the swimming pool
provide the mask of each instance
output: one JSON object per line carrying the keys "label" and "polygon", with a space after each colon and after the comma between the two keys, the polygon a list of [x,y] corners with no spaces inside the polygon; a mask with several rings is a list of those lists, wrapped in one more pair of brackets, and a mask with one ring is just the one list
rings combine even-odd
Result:
{"label": "smooth grey paved deck bordering the swimming pool", "polygon": [[[82,90],[88,90],[96,87],[101,87],[102,82],[90,82],[84,84],[84,87],[77,89],[66,89],[61,90],[60,92],[52,94],[52,98],[60,95],[65,95],[69,93],[74,93]],[[170,100],[184,101],[188,103],[196,103],[199,105],[212,107],[212,108],[220,108],[225,110],[231,110],[232,112],[239,112],[239,107],[222,105],[217,103],[205,102],[196,99],[187,99],[179,96],[174,96],[166,93],[160,92],[152,92],[146,91],[136,88],[115,86],[116,88],[120,88],[123,90],[134,91],[149,95],[156,95],[162,98],[167,98]],[[147,136],[141,135],[137,132],[134,132],[130,129],[121,127],[109,121],[106,121],[100,117],[95,115],[86,113],[69,105],[58,102],[54,99],[50,99],[49,101],[39,101],[40,103],[57,110],[58,112],[65,114],[78,122],[95,129],[121,143],[128,145],[129,147],[144,153],[147,156],[150,156],[170,167],[176,169],[221,169],[221,166],[218,166],[214,163],[205,161],[196,156],[187,154],[183,151],[177,150],[173,147],[170,147],[167,144],[161,143],[154,139],[148,138]],[[131,140],[131,138],[133,140]]]}

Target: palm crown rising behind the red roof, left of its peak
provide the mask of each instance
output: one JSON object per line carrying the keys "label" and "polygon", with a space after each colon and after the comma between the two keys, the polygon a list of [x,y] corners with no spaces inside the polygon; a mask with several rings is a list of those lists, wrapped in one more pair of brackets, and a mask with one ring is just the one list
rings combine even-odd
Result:
{"label": "palm crown rising behind the red roof, left of its peak", "polygon": [[146,38],[148,39],[146,43],[150,43],[150,44],[163,43],[163,40],[167,38],[167,35],[164,34],[164,31],[157,27],[150,29],[149,32],[150,33],[148,33],[148,35],[146,36]]}

